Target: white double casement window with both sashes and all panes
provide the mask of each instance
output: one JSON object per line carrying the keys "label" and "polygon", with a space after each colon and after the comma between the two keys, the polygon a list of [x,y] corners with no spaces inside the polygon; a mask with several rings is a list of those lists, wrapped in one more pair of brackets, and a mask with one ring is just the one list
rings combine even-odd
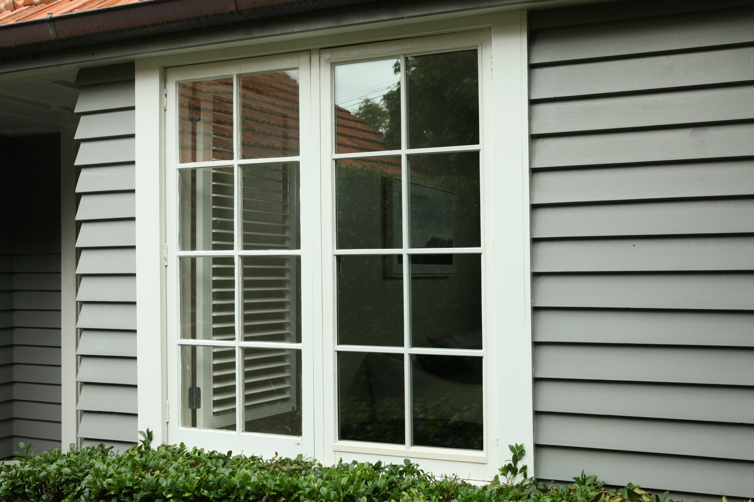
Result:
{"label": "white double casement window with both sashes and all panes", "polygon": [[488,38],[167,69],[170,442],[484,462]]}

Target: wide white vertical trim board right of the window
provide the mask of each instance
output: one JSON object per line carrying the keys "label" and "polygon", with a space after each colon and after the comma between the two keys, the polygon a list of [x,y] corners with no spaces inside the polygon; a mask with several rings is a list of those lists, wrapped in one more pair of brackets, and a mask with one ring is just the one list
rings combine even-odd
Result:
{"label": "wide white vertical trim board right of the window", "polygon": [[[531,239],[529,236],[529,82],[526,11],[492,17],[492,106],[483,120],[484,140],[492,142],[492,179],[483,184],[486,214],[495,218],[486,242],[492,253],[486,266],[492,272],[495,312],[488,318],[487,351],[495,364],[487,378],[495,382],[495,399],[487,417],[497,421],[497,458],[510,458],[507,445],[523,443],[524,464],[534,467],[534,403],[532,397]],[[494,120],[494,122],[493,122]],[[490,259],[490,255],[492,258]],[[490,263],[492,262],[492,263]],[[489,304],[489,303],[488,303]],[[490,426],[493,427],[492,422]],[[529,475],[534,476],[533,470]]]}

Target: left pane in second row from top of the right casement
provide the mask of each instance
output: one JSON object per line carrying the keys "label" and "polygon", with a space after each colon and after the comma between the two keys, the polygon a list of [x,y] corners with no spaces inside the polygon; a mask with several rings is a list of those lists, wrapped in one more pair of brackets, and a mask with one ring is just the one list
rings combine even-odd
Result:
{"label": "left pane in second row from top of the right casement", "polygon": [[400,157],[336,161],[338,248],[400,249]]}

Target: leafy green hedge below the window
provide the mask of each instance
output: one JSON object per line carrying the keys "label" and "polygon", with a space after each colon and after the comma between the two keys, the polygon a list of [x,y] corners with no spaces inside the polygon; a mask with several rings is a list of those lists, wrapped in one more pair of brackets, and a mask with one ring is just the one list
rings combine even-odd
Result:
{"label": "leafy green hedge below the window", "polygon": [[[22,443],[22,448],[23,448]],[[28,452],[28,448],[26,448]],[[605,490],[595,476],[569,486],[548,486],[517,467],[523,447],[511,447],[512,463],[485,486],[461,479],[435,479],[408,460],[403,464],[351,462],[331,467],[299,455],[295,459],[244,457],[186,449],[151,448],[146,441],[122,454],[104,446],[69,452],[53,449],[0,467],[0,500],[182,500],[186,502],[664,502],[629,485]]]}

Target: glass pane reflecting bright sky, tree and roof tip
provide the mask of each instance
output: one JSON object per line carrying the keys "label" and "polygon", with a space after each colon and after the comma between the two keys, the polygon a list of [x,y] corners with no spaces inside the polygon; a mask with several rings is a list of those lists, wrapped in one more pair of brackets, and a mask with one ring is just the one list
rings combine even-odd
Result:
{"label": "glass pane reflecting bright sky, tree and roof tip", "polygon": [[339,154],[400,148],[400,60],[335,67]]}

